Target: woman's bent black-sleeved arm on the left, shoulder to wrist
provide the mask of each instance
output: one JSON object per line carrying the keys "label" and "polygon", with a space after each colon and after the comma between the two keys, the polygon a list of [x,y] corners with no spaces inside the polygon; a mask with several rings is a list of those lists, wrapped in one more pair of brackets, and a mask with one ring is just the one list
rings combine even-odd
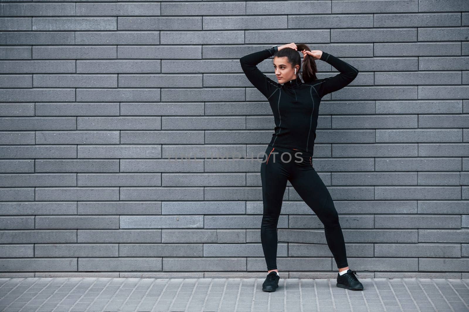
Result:
{"label": "woman's bent black-sleeved arm on the left, shoulder to wrist", "polygon": [[268,78],[259,70],[259,68],[257,68],[256,65],[264,59],[271,57],[277,51],[278,47],[273,46],[269,49],[245,55],[239,59],[242,71],[246,77],[248,77],[248,80],[267,98],[269,98],[272,93],[280,87],[280,84]]}

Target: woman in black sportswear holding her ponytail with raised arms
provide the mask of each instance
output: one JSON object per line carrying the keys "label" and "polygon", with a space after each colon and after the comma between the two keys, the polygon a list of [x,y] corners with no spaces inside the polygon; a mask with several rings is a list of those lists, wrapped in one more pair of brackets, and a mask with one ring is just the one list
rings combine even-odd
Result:
{"label": "woman in black sportswear holding her ponytail with raised arms", "polygon": [[[301,65],[298,51],[303,53],[304,82],[298,77]],[[271,56],[278,82],[256,67]],[[340,74],[317,79],[315,59],[331,64]],[[287,180],[324,224],[327,245],[339,268],[336,286],[363,290],[356,271],[348,267],[344,237],[331,195],[312,165],[321,98],[347,86],[358,70],[329,53],[311,51],[307,45],[295,43],[248,54],[240,62],[249,81],[269,100],[275,121],[272,140],[261,164],[264,203],[261,242],[268,273],[262,290],[275,291],[280,280],[276,263],[277,223]]]}

